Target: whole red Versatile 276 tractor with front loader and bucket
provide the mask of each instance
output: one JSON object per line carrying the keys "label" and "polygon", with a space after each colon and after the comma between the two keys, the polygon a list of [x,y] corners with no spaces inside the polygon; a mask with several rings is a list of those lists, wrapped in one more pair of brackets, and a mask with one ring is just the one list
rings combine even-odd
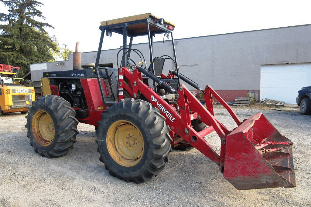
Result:
{"label": "whole red Versatile 276 tractor with front loader and bucket", "polygon": [[[195,147],[239,190],[295,187],[293,143],[262,113],[241,121],[209,85],[202,89],[179,73],[174,27],[150,13],[101,22],[93,69],[43,74],[44,96],[33,102],[26,124],[34,150],[48,158],[66,154],[82,122],[97,129],[97,151],[105,168],[126,182],[141,183],[158,175],[172,148]],[[99,66],[105,32],[123,34],[118,68]],[[143,35],[149,39],[149,65],[144,54],[132,48],[133,37]],[[173,57],[154,57],[156,35],[171,37]],[[166,75],[167,62],[173,68]],[[206,107],[181,80],[202,91]],[[215,118],[212,97],[228,110],[236,128],[229,130]],[[213,131],[220,137],[220,155],[204,138]]]}

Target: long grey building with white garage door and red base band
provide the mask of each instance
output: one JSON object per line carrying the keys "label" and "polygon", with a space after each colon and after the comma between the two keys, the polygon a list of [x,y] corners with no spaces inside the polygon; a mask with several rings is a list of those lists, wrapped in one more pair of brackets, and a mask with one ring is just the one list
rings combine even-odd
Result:
{"label": "long grey building with white garage door and red base band", "polygon": [[[227,102],[253,96],[295,103],[298,90],[311,85],[310,37],[311,25],[299,25],[176,39],[177,63],[180,73],[201,87],[211,85]],[[147,43],[132,48],[149,57]],[[103,50],[100,65],[117,68],[118,51]],[[96,53],[81,53],[81,65],[94,63]],[[154,56],[162,55],[173,56],[170,41],[154,43]],[[72,70],[72,65],[72,55],[68,61],[32,64],[31,78],[37,81],[46,71]],[[170,69],[173,63],[166,61],[163,72]]]}

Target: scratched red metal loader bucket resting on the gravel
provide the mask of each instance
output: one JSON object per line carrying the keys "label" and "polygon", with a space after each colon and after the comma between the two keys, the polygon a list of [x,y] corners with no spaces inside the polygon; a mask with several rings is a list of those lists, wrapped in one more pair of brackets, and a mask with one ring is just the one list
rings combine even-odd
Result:
{"label": "scratched red metal loader bucket resting on the gravel", "polygon": [[224,177],[238,190],[295,187],[292,144],[255,114],[226,136]]}

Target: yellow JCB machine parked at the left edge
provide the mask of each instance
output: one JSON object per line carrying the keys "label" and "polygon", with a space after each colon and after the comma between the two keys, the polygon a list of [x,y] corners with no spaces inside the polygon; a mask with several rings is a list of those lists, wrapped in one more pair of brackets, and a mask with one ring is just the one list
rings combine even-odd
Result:
{"label": "yellow JCB machine parked at the left edge", "polygon": [[26,87],[16,78],[18,67],[0,64],[0,116],[20,111],[26,114],[31,102],[35,101],[35,88]]}

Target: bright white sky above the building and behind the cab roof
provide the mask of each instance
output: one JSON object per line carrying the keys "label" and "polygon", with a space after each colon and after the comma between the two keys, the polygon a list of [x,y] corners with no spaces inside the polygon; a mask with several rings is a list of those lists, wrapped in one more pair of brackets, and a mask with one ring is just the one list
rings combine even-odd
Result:
{"label": "bright white sky above the building and behind the cab roof", "polygon": [[[44,4],[37,8],[46,18],[41,21],[54,27],[47,29],[49,35],[55,35],[60,46],[66,44],[72,51],[79,41],[79,52],[98,50],[100,21],[143,13],[176,25],[174,39],[311,24],[310,0],[37,1]],[[0,13],[7,10],[0,2]],[[140,42],[145,41],[133,40]],[[121,44],[121,35],[113,34],[104,38],[102,49],[119,48]]]}

